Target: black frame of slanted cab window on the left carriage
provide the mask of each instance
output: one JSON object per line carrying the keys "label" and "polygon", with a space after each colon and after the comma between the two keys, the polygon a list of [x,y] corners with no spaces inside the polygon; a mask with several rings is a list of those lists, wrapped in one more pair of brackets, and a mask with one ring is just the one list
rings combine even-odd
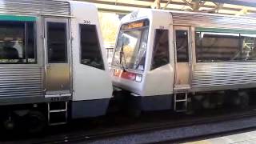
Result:
{"label": "black frame of slanted cab window on the left carriage", "polygon": [[98,67],[95,67],[95,66],[91,66],[91,67],[94,67],[94,68],[96,68],[96,69],[98,69],[98,70],[106,70],[106,68],[105,68],[105,62],[104,62],[104,58],[103,58],[103,55],[102,55],[102,46],[101,46],[101,43],[100,43],[100,40],[99,40],[99,38],[98,38],[98,30],[97,30],[97,26],[96,25],[92,25],[92,24],[90,24],[90,25],[88,25],[88,24],[82,24],[82,23],[79,23],[78,24],[79,25],[79,40],[80,40],[80,42],[79,42],[79,46],[80,46],[80,51],[79,51],[79,61],[80,61],[80,64],[82,64],[82,65],[86,65],[86,66],[91,66],[91,65],[87,65],[86,63],[84,63],[84,62],[82,62],[82,26],[93,26],[94,27],[94,30],[95,30],[95,35],[96,35],[96,40],[97,40],[97,44],[98,44],[98,51],[99,51],[99,53],[100,53],[100,58],[101,58],[101,60],[102,60],[102,68],[98,68]]}

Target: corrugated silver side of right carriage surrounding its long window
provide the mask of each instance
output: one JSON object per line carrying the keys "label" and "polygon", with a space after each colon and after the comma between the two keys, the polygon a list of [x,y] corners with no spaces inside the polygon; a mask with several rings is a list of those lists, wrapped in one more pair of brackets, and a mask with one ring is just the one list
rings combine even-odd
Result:
{"label": "corrugated silver side of right carriage surrounding its long window", "polygon": [[[254,18],[184,12],[173,12],[172,15],[174,25],[192,26],[191,33],[193,36],[191,40],[193,41],[193,54],[191,54],[191,56],[193,58],[193,68],[190,76],[190,91],[235,90],[253,88],[256,86],[254,79],[256,63],[254,59],[244,58],[238,60],[234,59],[233,61],[223,60],[216,62],[214,58],[212,58],[212,62],[197,62],[199,53],[197,53],[196,50],[198,46],[196,46],[197,39],[194,35],[197,31],[203,30],[209,32],[209,34],[216,34],[216,32],[220,34],[248,34],[246,36],[254,38],[254,34],[256,34],[254,31],[256,20]],[[226,46],[228,45],[229,44]],[[225,52],[225,50],[227,50],[227,48],[223,47],[223,52]],[[203,54],[208,54],[208,58],[210,58],[210,54],[214,55],[214,51],[211,53],[204,52]],[[215,55],[215,57],[217,56],[219,55]]]}

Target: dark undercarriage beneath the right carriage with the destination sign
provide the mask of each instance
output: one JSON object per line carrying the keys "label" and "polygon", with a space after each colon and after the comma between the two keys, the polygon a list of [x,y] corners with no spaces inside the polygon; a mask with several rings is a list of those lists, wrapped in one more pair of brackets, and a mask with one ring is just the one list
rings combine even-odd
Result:
{"label": "dark undercarriage beneath the right carriage with the destination sign", "polygon": [[[194,92],[187,94],[179,93],[165,95],[165,97],[169,97],[168,99],[165,99],[165,101],[171,101],[167,102],[170,104],[170,106],[168,106],[170,109],[168,110],[174,110],[175,112],[183,112],[186,114],[194,114],[195,112],[200,112],[200,110],[214,110],[222,109],[225,107],[246,109],[246,107],[253,106],[255,104],[255,93],[255,89],[218,90],[207,92]],[[140,114],[142,114],[142,112],[150,111],[145,110],[145,103],[143,103],[143,101],[145,101],[146,98],[134,97],[127,90],[115,91],[114,94],[115,104],[118,104],[120,110],[125,110],[126,113],[132,117],[138,117]],[[149,105],[153,106],[150,103]],[[155,110],[157,109],[159,108],[155,108]]]}

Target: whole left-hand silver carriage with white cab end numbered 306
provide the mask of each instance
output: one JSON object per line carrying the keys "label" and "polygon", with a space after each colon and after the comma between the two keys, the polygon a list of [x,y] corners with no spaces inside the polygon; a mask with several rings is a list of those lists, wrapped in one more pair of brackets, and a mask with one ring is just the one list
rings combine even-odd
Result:
{"label": "whole left-hand silver carriage with white cab end numbered 306", "polygon": [[[112,83],[94,5],[2,0],[0,13],[0,111],[6,129],[23,117],[33,132],[47,122],[106,113]],[[31,126],[30,119],[38,123]]]}

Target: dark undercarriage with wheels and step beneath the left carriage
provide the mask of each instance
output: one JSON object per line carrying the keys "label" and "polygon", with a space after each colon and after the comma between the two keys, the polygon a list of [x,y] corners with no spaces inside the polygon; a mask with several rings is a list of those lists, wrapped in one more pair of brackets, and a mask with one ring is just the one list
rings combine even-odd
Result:
{"label": "dark undercarriage with wheels and step beneath the left carriage", "polygon": [[49,102],[1,106],[0,129],[35,134],[46,126],[66,124],[70,102]]}

